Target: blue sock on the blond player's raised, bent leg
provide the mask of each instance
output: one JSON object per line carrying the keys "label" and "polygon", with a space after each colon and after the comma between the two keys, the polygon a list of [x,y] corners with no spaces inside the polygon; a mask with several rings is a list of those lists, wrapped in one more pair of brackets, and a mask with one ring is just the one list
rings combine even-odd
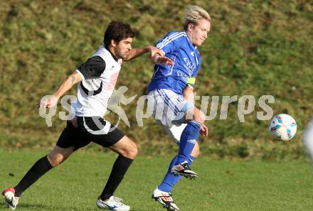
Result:
{"label": "blue sock on the blond player's raised, bent leg", "polygon": [[191,156],[191,151],[200,135],[201,124],[198,121],[189,121],[183,133],[181,134],[181,141],[179,142],[179,155],[175,165],[188,161]]}

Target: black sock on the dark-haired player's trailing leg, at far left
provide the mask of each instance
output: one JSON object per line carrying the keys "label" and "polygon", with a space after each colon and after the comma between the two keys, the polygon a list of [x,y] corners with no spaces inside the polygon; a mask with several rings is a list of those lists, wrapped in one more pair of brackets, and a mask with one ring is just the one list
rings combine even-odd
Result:
{"label": "black sock on the dark-haired player's trailing leg, at far left", "polygon": [[21,179],[21,181],[14,187],[16,193],[15,196],[19,197],[21,194],[33,183],[38,180],[42,175],[44,175],[47,171],[51,170],[53,168],[48,161],[47,156],[44,156],[43,158],[40,158],[35,164],[33,164],[33,167],[29,169],[29,171],[24,175],[24,177]]}

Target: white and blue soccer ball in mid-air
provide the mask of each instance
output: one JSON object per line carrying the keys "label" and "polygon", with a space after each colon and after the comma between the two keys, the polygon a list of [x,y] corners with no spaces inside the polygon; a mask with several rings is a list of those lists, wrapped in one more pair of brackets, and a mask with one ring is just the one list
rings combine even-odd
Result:
{"label": "white and blue soccer ball in mid-air", "polygon": [[274,139],[289,141],[297,132],[297,124],[289,115],[278,114],[270,121],[269,129]]}

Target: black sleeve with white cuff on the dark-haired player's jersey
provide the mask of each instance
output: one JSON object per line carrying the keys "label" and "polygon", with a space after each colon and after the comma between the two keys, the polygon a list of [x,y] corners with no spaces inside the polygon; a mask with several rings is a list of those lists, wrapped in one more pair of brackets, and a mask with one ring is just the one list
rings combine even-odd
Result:
{"label": "black sleeve with white cuff on the dark-haired player's jersey", "polygon": [[83,77],[83,80],[100,77],[104,71],[105,60],[100,56],[93,56],[92,58],[87,59],[87,61],[80,65],[76,70],[76,72]]}

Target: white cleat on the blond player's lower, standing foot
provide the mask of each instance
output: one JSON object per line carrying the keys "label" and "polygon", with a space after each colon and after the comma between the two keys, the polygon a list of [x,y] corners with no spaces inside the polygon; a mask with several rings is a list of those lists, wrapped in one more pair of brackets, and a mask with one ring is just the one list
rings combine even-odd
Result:
{"label": "white cleat on the blond player's lower, standing foot", "polygon": [[171,193],[156,188],[152,193],[152,198],[158,201],[167,211],[179,211],[179,207],[175,205],[173,198],[171,198]]}

